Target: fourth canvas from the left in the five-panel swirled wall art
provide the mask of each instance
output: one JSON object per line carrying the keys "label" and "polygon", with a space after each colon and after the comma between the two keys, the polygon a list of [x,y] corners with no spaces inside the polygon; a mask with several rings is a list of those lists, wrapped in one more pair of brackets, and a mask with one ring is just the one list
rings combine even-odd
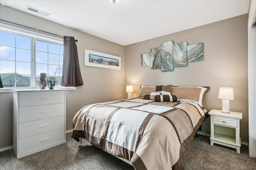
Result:
{"label": "fourth canvas from the left in the five-panel swirled wall art", "polygon": [[175,67],[187,66],[187,42],[173,45],[173,65]]}

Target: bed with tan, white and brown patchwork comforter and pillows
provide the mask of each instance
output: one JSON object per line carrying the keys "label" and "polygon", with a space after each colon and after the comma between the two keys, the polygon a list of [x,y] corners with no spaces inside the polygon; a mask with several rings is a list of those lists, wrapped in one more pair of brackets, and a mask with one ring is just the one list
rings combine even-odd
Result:
{"label": "bed with tan, white and brown patchwork comforter and pillows", "polygon": [[73,119],[72,138],[127,160],[135,170],[184,170],[184,155],[208,117],[210,87],[142,86],[137,98],[96,103]]}

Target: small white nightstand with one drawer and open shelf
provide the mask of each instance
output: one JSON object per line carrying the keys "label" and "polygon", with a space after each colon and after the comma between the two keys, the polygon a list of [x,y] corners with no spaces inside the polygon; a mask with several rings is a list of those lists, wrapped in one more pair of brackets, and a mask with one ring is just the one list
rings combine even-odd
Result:
{"label": "small white nightstand with one drawer and open shelf", "polygon": [[240,153],[240,119],[242,113],[230,111],[222,113],[221,110],[212,109],[211,116],[211,146],[214,143],[236,149]]}

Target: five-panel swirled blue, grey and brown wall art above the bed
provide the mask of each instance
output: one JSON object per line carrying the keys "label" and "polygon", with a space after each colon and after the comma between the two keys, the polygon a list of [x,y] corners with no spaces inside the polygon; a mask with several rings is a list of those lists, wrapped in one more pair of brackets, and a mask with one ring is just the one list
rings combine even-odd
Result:
{"label": "five-panel swirled blue, grey and brown wall art above the bed", "polygon": [[187,45],[187,42],[168,41],[160,47],[150,49],[141,55],[141,66],[151,69],[161,68],[162,72],[173,71],[174,67],[187,66],[188,62],[203,60],[203,43]]}

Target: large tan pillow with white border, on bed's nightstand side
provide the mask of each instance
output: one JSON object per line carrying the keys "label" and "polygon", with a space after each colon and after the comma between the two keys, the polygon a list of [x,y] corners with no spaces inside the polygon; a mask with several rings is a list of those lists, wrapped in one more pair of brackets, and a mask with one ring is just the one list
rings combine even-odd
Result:
{"label": "large tan pillow with white border, on bed's nightstand side", "polygon": [[175,95],[178,101],[194,102],[204,108],[204,96],[210,87],[172,86],[171,94]]}

